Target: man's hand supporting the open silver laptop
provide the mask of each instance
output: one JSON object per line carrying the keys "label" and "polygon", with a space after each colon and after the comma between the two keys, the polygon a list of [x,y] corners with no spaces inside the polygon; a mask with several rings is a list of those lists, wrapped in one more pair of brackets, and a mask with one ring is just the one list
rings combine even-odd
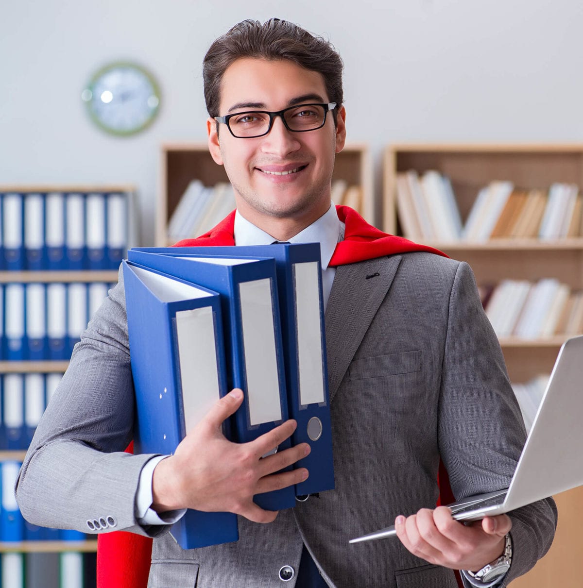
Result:
{"label": "man's hand supporting the open silver laptop", "polygon": [[397,536],[414,555],[454,570],[476,572],[504,553],[504,537],[512,527],[507,515],[459,523],[446,506],[421,509],[395,519]]}

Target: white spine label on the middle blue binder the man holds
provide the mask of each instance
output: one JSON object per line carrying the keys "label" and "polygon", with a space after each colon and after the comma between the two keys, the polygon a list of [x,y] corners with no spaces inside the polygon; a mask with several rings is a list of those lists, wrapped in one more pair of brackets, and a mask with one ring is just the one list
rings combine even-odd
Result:
{"label": "white spine label on the middle blue binder the man holds", "polygon": [[271,280],[239,283],[250,424],[281,420]]}

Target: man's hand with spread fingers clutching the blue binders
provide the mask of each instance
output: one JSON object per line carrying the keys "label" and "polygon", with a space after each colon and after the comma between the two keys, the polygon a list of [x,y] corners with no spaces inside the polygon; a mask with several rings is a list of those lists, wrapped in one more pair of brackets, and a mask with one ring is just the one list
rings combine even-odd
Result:
{"label": "man's hand with spread fingers clutching the blue binders", "polygon": [[308,455],[301,443],[262,458],[295,430],[288,420],[250,443],[231,443],[222,422],[241,406],[242,390],[222,397],[204,419],[182,439],[174,455],[158,463],[152,478],[152,508],[165,512],[182,508],[232,512],[256,523],[271,523],[277,512],[263,510],[253,496],[292,486],[308,477],[305,468],[279,472]]}

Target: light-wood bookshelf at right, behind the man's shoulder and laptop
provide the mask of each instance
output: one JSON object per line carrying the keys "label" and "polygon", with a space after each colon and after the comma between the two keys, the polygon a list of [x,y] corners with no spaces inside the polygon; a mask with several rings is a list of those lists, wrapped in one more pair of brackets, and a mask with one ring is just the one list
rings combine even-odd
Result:
{"label": "light-wood bookshelf at right, behind the man's shoulder and laptop", "polygon": [[[545,189],[553,182],[574,183],[583,189],[583,144],[402,144],[384,153],[382,228],[399,233],[397,173],[437,170],[448,176],[462,221],[481,188],[493,180],[509,180],[524,189]],[[583,239],[492,239],[484,243],[430,242],[474,270],[478,284],[502,279],[557,278],[571,289],[583,289]],[[525,382],[539,373],[550,373],[565,336],[534,340],[516,337],[500,343],[513,382]],[[544,472],[541,472],[544,475]],[[555,497],[559,523],[548,554],[512,588],[575,588],[579,553],[583,488]],[[519,546],[517,546],[519,549]]]}

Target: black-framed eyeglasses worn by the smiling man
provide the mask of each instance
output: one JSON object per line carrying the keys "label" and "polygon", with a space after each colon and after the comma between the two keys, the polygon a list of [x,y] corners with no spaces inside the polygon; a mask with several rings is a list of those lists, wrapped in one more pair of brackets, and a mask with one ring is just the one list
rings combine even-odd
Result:
{"label": "black-framed eyeglasses worn by the smiling man", "polygon": [[215,116],[216,122],[222,122],[238,139],[254,139],[271,131],[276,116],[281,116],[285,128],[293,133],[305,133],[321,129],[326,122],[328,111],[336,108],[336,102],[328,104],[300,104],[290,106],[282,111],[245,111],[226,116]]}

